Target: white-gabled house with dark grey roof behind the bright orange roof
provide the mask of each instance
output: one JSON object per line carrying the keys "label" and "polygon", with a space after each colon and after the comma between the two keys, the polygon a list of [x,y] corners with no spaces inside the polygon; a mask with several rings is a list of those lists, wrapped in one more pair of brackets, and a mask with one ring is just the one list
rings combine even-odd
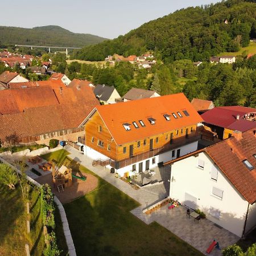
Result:
{"label": "white-gabled house with dark grey roof behind the bright orange roof", "polygon": [[121,98],[114,86],[98,84],[93,90],[94,95],[104,104],[114,104],[118,98]]}

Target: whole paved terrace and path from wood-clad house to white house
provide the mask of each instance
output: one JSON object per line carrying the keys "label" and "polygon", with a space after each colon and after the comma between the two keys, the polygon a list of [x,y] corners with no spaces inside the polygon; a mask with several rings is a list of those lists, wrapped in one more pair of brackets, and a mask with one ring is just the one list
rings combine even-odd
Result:
{"label": "whole paved terrace and path from wood-clad house to white house", "polygon": [[[200,250],[205,255],[207,248],[213,239],[220,243],[221,249],[226,246],[232,245],[239,240],[239,237],[230,233],[226,229],[218,228],[213,222],[204,219],[200,220],[199,223],[195,222],[193,218],[187,217],[185,207],[177,207],[169,210],[168,206],[162,207],[151,214],[144,214],[142,210],[148,206],[164,199],[168,196],[168,175],[163,175],[164,183],[162,185],[155,185],[152,187],[141,188],[138,190],[133,189],[129,184],[125,183],[121,179],[117,179],[114,175],[110,174],[110,171],[105,167],[92,166],[92,159],[71,146],[65,146],[65,149],[71,154],[69,158],[75,159],[83,166],[93,171],[95,174],[105,179],[128,196],[138,201],[141,207],[131,210],[135,216],[140,218],[146,224],[150,224],[153,221],[158,222],[164,228],[170,230],[176,236],[189,243],[197,250]],[[168,171],[168,170],[166,170]],[[218,256],[221,255],[221,251],[214,249],[210,255]]]}

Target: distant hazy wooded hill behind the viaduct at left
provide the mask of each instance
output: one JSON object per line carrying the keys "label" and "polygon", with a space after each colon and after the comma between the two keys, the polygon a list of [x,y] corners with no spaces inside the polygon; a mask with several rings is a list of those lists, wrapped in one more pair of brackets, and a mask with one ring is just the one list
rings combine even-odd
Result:
{"label": "distant hazy wooded hill behind the viaduct at left", "polygon": [[97,44],[105,38],[90,34],[78,34],[59,26],[34,28],[0,26],[0,44],[31,44],[35,46],[82,47]]}

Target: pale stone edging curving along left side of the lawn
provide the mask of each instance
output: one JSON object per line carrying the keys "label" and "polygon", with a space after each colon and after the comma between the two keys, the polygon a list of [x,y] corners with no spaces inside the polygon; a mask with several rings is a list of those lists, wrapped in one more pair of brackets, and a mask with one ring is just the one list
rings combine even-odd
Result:
{"label": "pale stone edging curving along left side of the lawn", "polygon": [[[11,165],[9,162],[7,162],[5,159],[2,159],[0,157],[0,161],[8,164],[11,168],[14,168],[15,171],[18,172],[18,174],[22,174],[16,167],[14,167],[13,165]],[[41,184],[39,184],[37,181],[33,180],[31,177],[25,175],[26,179],[28,181],[30,181],[30,183],[32,183],[33,185],[35,185],[36,187],[40,188],[42,187]],[[60,218],[61,218],[61,222],[62,222],[62,226],[63,226],[63,231],[64,231],[64,236],[65,236],[65,240],[68,246],[68,254],[69,256],[76,256],[76,249],[75,249],[75,245],[73,243],[73,239],[71,236],[71,232],[69,230],[69,225],[68,225],[68,220],[67,220],[67,216],[64,210],[63,205],[60,203],[60,200],[57,199],[56,196],[53,197],[53,201],[55,202],[55,204],[57,205],[57,208],[59,209],[60,212]]]}

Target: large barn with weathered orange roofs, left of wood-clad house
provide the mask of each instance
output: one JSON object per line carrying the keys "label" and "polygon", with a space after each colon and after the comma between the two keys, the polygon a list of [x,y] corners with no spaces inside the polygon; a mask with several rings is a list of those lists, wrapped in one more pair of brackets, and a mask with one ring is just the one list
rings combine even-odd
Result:
{"label": "large barn with weathered orange roofs, left of wood-clad house", "polygon": [[[49,82],[49,81],[48,81]],[[61,81],[51,81],[62,84]],[[79,127],[100,105],[89,86],[34,86],[0,91],[0,141],[9,144],[49,143],[49,139],[76,141]]]}

